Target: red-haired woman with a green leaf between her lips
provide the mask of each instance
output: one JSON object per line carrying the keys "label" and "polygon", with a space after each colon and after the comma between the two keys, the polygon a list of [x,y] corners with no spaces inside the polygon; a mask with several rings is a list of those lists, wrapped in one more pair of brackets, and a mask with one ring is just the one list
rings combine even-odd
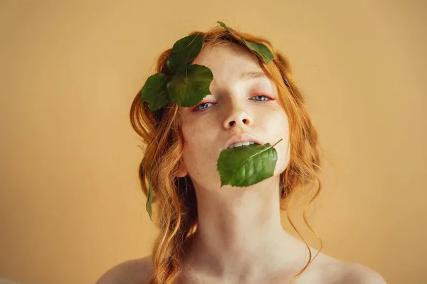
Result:
{"label": "red-haired woman with a green leaf between her lips", "polygon": [[[152,190],[159,205],[152,256],[120,263],[97,284],[385,283],[370,268],[320,253],[281,226],[280,209],[289,219],[291,201],[302,190],[317,180],[314,199],[321,188],[317,130],[287,58],[268,40],[223,23],[190,35],[203,35],[201,52],[190,64],[211,70],[210,94],[191,107],[175,98],[152,111],[141,103],[143,88],[131,109],[132,126],[147,144],[139,170],[142,190],[148,200]],[[273,60],[266,64],[251,43],[268,48]],[[157,72],[168,74],[172,53],[162,53]],[[223,153],[263,145],[274,152],[265,158],[274,160],[267,178],[246,186],[223,182]],[[263,166],[253,167],[252,175]]]}

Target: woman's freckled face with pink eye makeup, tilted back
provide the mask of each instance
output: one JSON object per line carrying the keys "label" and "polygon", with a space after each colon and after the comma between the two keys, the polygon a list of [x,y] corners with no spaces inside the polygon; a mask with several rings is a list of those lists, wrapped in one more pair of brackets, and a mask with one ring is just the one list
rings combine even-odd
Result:
{"label": "woman's freckled face with pink eye makeup, tilted back", "polygon": [[[218,190],[221,180],[216,163],[221,151],[232,136],[248,133],[261,144],[273,145],[283,138],[274,147],[278,153],[274,176],[278,177],[288,165],[290,146],[288,117],[275,84],[251,55],[230,43],[202,50],[194,64],[209,67],[214,80],[211,94],[197,106],[179,107],[184,136],[184,167],[179,176],[188,173],[196,189]],[[260,75],[242,77],[246,72]]]}

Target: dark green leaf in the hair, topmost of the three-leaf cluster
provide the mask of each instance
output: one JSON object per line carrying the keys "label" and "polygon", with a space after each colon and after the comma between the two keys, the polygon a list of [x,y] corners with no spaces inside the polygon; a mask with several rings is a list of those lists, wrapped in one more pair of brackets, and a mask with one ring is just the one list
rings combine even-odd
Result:
{"label": "dark green leaf in the hair, topmost of the three-leaf cluster", "polygon": [[179,67],[192,62],[201,51],[204,35],[189,35],[176,41],[167,58],[167,68],[175,74]]}

